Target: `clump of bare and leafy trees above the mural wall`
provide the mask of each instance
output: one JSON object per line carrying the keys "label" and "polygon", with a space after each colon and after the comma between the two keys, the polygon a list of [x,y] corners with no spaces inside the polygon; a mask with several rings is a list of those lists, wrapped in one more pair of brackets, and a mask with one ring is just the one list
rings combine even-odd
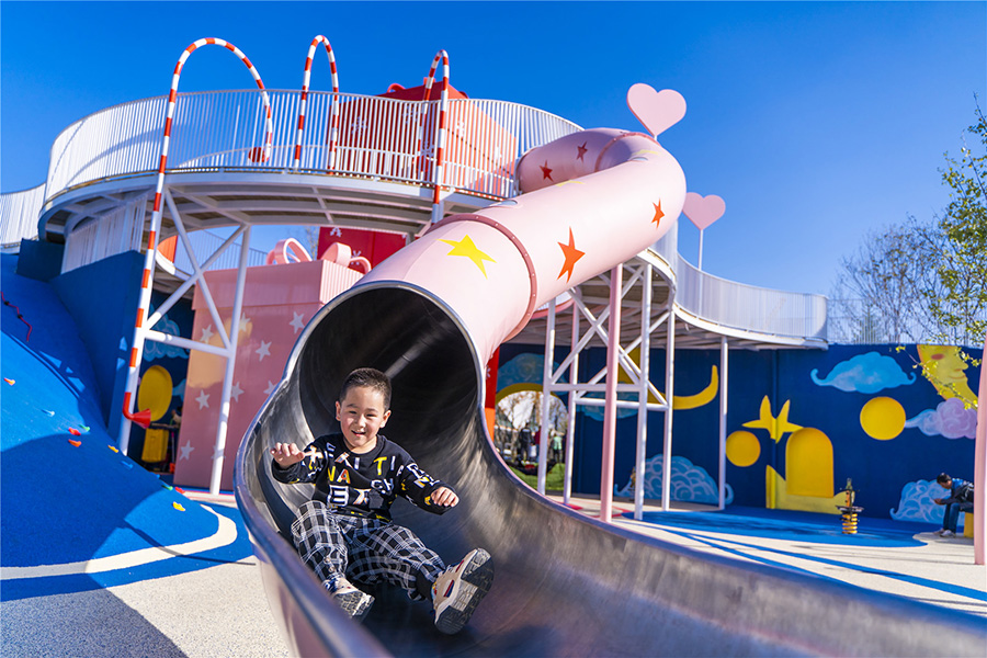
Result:
{"label": "clump of bare and leafy trees above the mural wall", "polygon": [[[987,121],[966,132],[987,147]],[[841,337],[887,342],[979,344],[987,330],[987,155],[963,139],[960,160],[945,154],[942,181],[951,189],[942,215],[869,234],[840,260],[832,310]],[[831,314],[832,315],[832,314]],[[836,322],[833,322],[836,324]],[[831,332],[832,333],[832,332]],[[866,337],[866,338],[865,338]]]}

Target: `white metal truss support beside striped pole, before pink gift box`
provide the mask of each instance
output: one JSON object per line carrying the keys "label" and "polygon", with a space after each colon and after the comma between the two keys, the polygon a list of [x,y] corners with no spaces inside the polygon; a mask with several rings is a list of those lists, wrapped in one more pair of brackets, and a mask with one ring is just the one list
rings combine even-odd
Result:
{"label": "white metal truss support beside striped pole, before pink gift box", "polygon": [[[174,223],[174,227],[182,239],[182,245],[184,246],[185,251],[189,256],[189,260],[192,263],[193,273],[155,310],[154,314],[150,315],[150,317],[148,317],[146,322],[141,322],[136,327],[134,331],[133,344],[137,356],[136,364],[133,371],[135,373],[138,373],[140,371],[140,363],[144,356],[144,343],[148,340],[167,343],[186,350],[198,350],[226,359],[226,372],[223,379],[223,393],[219,402],[219,423],[216,430],[216,443],[213,451],[213,465],[209,476],[209,492],[218,494],[219,484],[223,476],[223,464],[226,451],[227,428],[229,423],[229,398],[232,392],[234,368],[236,366],[237,339],[239,336],[240,316],[242,315],[243,306],[243,287],[247,279],[247,258],[250,253],[250,226],[241,225],[239,228],[237,228],[234,234],[230,235],[226,239],[226,241],[219,246],[218,249],[216,249],[216,251],[209,254],[206,260],[200,264],[198,259],[195,256],[195,250],[192,248],[192,242],[189,239],[189,234],[185,230],[184,223],[182,222],[181,214],[178,212],[178,207],[168,188],[164,188],[163,190],[163,197],[169,213],[171,214],[171,219]],[[236,242],[238,238],[240,239],[240,257],[237,265],[237,285],[236,294],[234,297],[232,317],[230,318],[229,333],[227,334],[225,325],[219,317],[219,310],[216,307],[216,303],[213,299],[209,286],[206,283],[205,271],[206,268],[208,268],[230,245]],[[147,260],[149,262],[154,262],[156,258],[157,254],[151,253],[148,256]],[[151,290],[154,286],[155,268],[151,265],[150,268],[148,268],[148,270],[150,281],[147,284],[147,288]],[[155,325],[157,325],[158,321],[164,317],[164,314],[167,314],[175,305],[175,303],[178,303],[178,300],[182,298],[182,296],[189,291],[189,288],[196,284],[198,285],[203,299],[206,303],[206,307],[209,310],[209,316],[213,318],[213,322],[215,322],[217,327],[217,334],[223,343],[223,347],[211,345],[204,342],[164,333],[162,331],[157,331],[154,329]],[[131,400],[132,405],[136,405],[137,383],[138,377],[136,376],[129,377],[127,379],[124,399]],[[134,411],[134,409],[128,409],[126,408],[126,406],[124,410],[128,413],[133,413]],[[118,435],[120,449],[124,454],[127,453],[127,450],[129,447],[129,439],[131,420],[125,418],[124,421],[121,422]]]}

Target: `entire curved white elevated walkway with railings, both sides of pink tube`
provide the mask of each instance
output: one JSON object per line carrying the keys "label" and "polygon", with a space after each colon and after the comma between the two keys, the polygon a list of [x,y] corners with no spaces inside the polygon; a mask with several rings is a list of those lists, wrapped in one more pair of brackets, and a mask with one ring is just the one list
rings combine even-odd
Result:
{"label": "entire curved white elevated walkway with railings, both sides of pink tube", "polygon": [[[436,188],[443,215],[515,196],[519,158],[581,129],[526,105],[451,99],[440,141],[440,101],[331,92],[307,92],[304,99],[303,113],[299,91],[178,94],[166,174],[168,193],[188,229],[341,226],[411,239],[432,220]],[[140,226],[129,231],[137,237],[128,248],[141,249],[167,100],[114,105],[63,131],[52,148],[46,183],[2,195],[3,241],[12,241],[8,232],[14,226],[24,230],[34,223],[41,239],[67,241],[70,248],[73,234],[81,238],[88,232],[88,243],[97,250],[95,225],[136,208],[132,214]],[[270,124],[264,121],[265,100]],[[265,143],[271,147],[265,149]],[[166,208],[161,237],[174,232]],[[92,257],[81,258],[86,262]],[[677,330],[680,347],[714,348],[724,337],[736,347],[827,344],[826,298],[820,295],[711,276],[678,253],[676,231],[638,260],[662,272],[653,284],[654,299],[667,299],[674,291],[676,314],[684,320]],[[605,305],[606,285],[601,275],[578,293]],[[628,333],[638,330],[634,321],[634,309],[628,309]],[[542,337],[543,325],[534,319],[515,340],[541,342]]]}

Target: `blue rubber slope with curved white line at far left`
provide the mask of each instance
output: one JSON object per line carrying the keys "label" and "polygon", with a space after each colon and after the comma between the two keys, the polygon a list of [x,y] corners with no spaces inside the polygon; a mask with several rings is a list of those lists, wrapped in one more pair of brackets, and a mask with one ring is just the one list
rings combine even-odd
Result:
{"label": "blue rubber slope with curved white line at far left", "polygon": [[71,317],[48,284],[18,275],[15,264],[0,257],[0,600],[252,555],[236,509],[190,500],[115,450]]}

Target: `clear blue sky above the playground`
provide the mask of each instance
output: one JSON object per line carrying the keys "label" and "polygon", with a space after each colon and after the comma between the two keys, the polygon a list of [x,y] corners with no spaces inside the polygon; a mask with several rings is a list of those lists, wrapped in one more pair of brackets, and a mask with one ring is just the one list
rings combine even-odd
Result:
{"label": "clear blue sky above the playground", "polygon": [[[182,49],[239,46],[270,89],[297,89],[308,44],[332,43],[344,92],[420,83],[440,48],[472,98],[541,107],[583,127],[639,129],[635,82],[681,92],[659,136],[689,190],[718,194],[704,270],[826,294],[870,230],[931,218],[987,105],[985,2],[19,2],[0,3],[0,190],[41,183],[58,133],[168,92]],[[316,60],[313,89],[329,89]],[[181,91],[252,87],[220,48]],[[987,109],[987,107],[985,107]],[[682,217],[682,254],[699,231]],[[273,245],[271,230],[253,246]]]}

